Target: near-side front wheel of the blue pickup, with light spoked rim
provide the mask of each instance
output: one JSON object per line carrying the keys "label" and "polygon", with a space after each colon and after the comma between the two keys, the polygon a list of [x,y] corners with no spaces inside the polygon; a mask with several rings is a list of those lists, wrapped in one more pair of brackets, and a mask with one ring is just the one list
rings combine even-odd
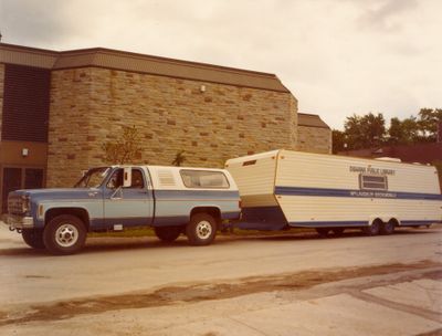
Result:
{"label": "near-side front wheel of the blue pickup, with light spoked rim", "polygon": [[44,228],[43,242],[48,251],[56,255],[74,254],[86,241],[83,221],[72,214],[53,218]]}

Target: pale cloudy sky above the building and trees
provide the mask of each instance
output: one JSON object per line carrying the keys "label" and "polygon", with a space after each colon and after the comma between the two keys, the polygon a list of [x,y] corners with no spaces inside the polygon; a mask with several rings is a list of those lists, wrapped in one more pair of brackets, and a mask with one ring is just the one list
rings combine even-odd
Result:
{"label": "pale cloudy sky above the building and trees", "polygon": [[343,129],[347,116],[442,107],[440,0],[0,0],[1,42],[109,48],[276,74]]}

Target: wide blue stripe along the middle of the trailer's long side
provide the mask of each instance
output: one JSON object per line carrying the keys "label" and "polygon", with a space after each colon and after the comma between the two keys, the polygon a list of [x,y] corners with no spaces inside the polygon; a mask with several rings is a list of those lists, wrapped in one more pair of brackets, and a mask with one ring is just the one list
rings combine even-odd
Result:
{"label": "wide blue stripe along the middle of the trailer's long side", "polygon": [[356,198],[382,198],[382,199],[413,199],[413,200],[442,200],[440,193],[419,193],[399,191],[377,191],[357,189],[328,189],[303,187],[275,187],[276,196],[319,196],[319,197],[356,197]]}

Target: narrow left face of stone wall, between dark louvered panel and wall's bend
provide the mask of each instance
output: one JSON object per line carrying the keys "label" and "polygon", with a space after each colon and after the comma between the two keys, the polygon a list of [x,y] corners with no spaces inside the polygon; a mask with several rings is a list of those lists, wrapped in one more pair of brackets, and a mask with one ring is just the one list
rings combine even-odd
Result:
{"label": "narrow left face of stone wall, between dark louvered panel and wall's bend", "polygon": [[52,72],[48,187],[73,186],[90,165],[91,72],[91,69]]}

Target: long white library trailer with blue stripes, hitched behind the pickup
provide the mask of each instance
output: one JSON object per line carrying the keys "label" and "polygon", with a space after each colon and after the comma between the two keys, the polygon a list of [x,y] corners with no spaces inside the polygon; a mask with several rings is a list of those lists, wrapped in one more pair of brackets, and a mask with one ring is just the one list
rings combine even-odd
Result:
{"label": "long white library trailer with blue stripes, hitched behind the pickup", "polygon": [[432,166],[281,149],[230,159],[225,168],[240,190],[243,229],[327,235],[361,228],[373,235],[442,221]]}

